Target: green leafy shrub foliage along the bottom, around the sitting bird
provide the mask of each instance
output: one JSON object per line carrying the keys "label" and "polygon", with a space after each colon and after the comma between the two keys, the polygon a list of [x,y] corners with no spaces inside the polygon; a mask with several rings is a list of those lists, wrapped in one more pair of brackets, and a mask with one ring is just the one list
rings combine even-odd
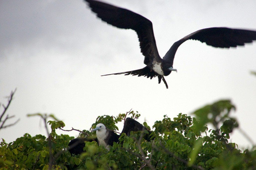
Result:
{"label": "green leafy shrub foliage along the bottom, around the sitting bird", "polygon": [[[164,115],[153,125],[150,141],[144,140],[142,132],[133,132],[129,137],[122,134],[110,151],[94,141],[85,142],[81,155],[67,151],[74,137],[55,132],[65,124],[48,121],[49,137],[26,133],[11,143],[2,139],[0,169],[253,169],[255,146],[242,152],[235,143],[228,142],[230,133],[238,127],[236,119],[229,116],[234,109],[229,100],[221,100],[196,110],[195,117]],[[126,116],[136,119],[140,114],[131,111],[116,117],[99,116],[92,128],[103,123],[116,131],[116,123]],[[146,122],[143,125],[151,130]],[[214,128],[208,129],[207,125]],[[83,130],[79,136],[93,135],[95,132]]]}

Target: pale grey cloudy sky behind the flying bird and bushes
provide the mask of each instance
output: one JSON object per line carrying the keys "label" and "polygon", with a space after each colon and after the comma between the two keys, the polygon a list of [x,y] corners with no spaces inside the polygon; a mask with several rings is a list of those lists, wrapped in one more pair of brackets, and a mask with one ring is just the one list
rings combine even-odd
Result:
{"label": "pale grey cloudy sky behind the flying bird and bushes", "polygon": [[[107,2],[152,21],[160,56],[202,28],[256,28],[256,1],[251,0]],[[250,74],[256,70],[255,42],[223,50],[186,41],[174,59],[178,72],[165,78],[166,89],[157,78],[100,76],[143,68],[144,56],[134,31],[102,22],[83,1],[0,1],[0,40],[0,101],[7,103],[5,96],[17,87],[7,114],[21,119],[1,130],[7,142],[24,133],[45,135],[43,122],[28,113],[53,113],[65,129],[89,130],[97,116],[133,108],[141,114],[139,122],[152,127],[165,114],[191,115],[219,99],[232,100],[237,106],[232,115],[256,141],[256,78]],[[238,131],[231,141],[250,145]]]}

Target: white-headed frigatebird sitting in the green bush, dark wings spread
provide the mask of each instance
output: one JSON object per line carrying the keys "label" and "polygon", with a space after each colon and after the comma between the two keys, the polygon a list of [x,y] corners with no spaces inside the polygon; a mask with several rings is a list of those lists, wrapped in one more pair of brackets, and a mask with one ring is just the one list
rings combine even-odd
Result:
{"label": "white-headed frigatebird sitting in the green bush, dark wings spread", "polygon": [[[142,124],[140,124],[139,122],[137,122],[136,120],[127,117],[125,119],[124,122],[124,127],[123,130],[121,132],[125,133],[127,136],[130,136],[130,132],[131,131],[143,131],[144,129],[146,129],[145,126],[143,126]],[[113,143],[116,142],[118,143],[119,141],[119,137],[120,135],[117,135],[114,131],[108,129],[105,127],[105,125],[103,125],[102,123],[99,123],[96,125],[95,129],[92,129],[92,131],[96,131],[96,135],[97,138],[76,138],[73,139],[69,142],[68,146],[69,146],[69,152],[71,154],[81,154],[85,145],[85,141],[96,141],[99,145],[103,145],[106,149],[109,150],[109,146],[113,146]],[[144,135],[144,139],[146,139],[147,141],[150,140],[149,135],[150,135],[150,131],[148,131],[148,134]]]}

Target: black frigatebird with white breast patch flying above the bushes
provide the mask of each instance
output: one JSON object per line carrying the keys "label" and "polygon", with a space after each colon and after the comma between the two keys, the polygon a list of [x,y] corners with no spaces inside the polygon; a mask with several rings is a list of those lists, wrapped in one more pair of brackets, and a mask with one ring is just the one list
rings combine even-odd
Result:
{"label": "black frigatebird with white breast patch flying above the bushes", "polygon": [[244,43],[250,43],[252,40],[256,40],[256,31],[225,27],[205,28],[195,31],[175,42],[162,59],[157,51],[153,26],[150,20],[128,9],[94,0],[85,1],[89,3],[91,10],[96,13],[97,17],[101,18],[102,21],[118,28],[132,29],[136,31],[138,35],[141,53],[145,56],[144,64],[146,67],[138,70],[114,73],[114,75],[131,74],[133,76],[150,77],[150,79],[157,76],[158,83],[163,79],[167,89],[168,85],[164,76],[168,76],[172,71],[177,72],[177,69],[173,68],[173,60],[178,47],[183,42],[192,39],[205,42],[207,45],[214,47],[229,48],[244,45]]}

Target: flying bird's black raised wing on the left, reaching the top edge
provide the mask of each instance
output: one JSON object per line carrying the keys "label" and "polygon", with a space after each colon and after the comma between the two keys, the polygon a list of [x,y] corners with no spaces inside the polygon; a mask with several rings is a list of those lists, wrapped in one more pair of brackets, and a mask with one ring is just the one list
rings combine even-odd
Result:
{"label": "flying bird's black raised wing on the left, reaching the top edge", "polygon": [[144,64],[149,65],[158,54],[152,22],[147,18],[130,10],[119,8],[99,1],[85,0],[89,3],[91,10],[101,18],[115,27],[133,29],[136,31],[142,54],[145,56]]}

